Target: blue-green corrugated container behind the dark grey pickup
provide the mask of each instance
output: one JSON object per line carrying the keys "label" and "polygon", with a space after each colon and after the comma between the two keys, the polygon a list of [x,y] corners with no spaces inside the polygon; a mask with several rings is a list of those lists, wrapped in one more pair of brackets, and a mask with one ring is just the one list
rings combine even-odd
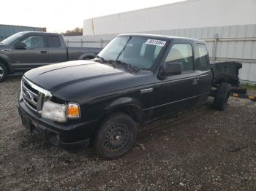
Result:
{"label": "blue-green corrugated container behind the dark grey pickup", "polygon": [[0,41],[21,31],[46,31],[46,28],[0,25]]}

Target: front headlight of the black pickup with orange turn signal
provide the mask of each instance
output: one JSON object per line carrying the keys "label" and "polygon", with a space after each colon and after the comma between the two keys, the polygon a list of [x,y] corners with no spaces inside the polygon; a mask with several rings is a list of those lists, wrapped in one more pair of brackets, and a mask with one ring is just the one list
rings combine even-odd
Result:
{"label": "front headlight of the black pickup with orange turn signal", "polygon": [[66,122],[68,118],[80,117],[80,107],[75,103],[63,105],[45,101],[44,106],[42,106],[41,116],[49,120]]}

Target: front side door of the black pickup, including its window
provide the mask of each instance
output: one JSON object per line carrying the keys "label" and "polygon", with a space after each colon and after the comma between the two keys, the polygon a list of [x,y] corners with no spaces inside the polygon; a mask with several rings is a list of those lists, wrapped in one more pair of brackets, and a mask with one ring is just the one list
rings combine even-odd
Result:
{"label": "front side door of the black pickup, including its window", "polygon": [[181,63],[181,74],[157,79],[154,87],[154,117],[184,111],[197,102],[199,74],[195,71],[193,52],[189,43],[176,42],[170,48],[163,64]]}

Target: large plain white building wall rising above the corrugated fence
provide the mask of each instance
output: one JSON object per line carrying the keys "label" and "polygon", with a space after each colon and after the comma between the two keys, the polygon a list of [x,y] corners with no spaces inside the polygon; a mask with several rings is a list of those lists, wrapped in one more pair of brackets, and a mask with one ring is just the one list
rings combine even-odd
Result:
{"label": "large plain white building wall rising above the corrugated fence", "polygon": [[255,24],[255,0],[187,0],[83,21],[83,35]]}

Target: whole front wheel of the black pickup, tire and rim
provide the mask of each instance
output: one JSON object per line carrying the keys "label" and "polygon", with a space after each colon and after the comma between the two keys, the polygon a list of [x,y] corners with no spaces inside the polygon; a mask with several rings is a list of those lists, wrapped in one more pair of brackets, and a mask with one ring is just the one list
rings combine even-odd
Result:
{"label": "whole front wheel of the black pickup, tire and rim", "polygon": [[132,149],[136,136],[136,123],[132,117],[123,113],[111,114],[102,122],[94,147],[102,159],[116,159]]}

